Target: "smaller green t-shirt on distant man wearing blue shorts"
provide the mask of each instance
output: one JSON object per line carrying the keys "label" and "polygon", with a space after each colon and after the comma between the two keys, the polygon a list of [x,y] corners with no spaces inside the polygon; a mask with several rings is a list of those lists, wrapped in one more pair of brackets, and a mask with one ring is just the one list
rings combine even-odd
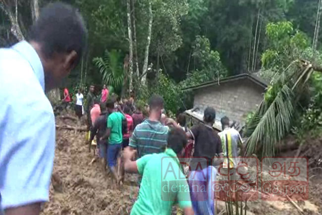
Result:
{"label": "smaller green t-shirt on distant man wearing blue shorts", "polygon": [[119,144],[123,141],[122,135],[122,120],[124,115],[119,112],[113,112],[108,115],[107,128],[110,128],[108,144]]}

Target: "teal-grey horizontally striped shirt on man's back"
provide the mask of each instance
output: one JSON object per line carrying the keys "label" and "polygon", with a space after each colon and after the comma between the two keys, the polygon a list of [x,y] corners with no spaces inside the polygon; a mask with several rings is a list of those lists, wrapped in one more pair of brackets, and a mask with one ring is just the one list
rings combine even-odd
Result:
{"label": "teal-grey horizontally striped shirt on man's back", "polygon": [[129,146],[137,149],[138,158],[165,150],[169,127],[160,122],[146,119],[137,125],[130,138]]}

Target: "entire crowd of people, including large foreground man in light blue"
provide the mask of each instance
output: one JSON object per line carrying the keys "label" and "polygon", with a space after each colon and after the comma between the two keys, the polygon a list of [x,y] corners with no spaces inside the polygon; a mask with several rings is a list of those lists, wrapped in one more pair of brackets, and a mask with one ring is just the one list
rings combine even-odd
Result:
{"label": "entire crowd of people, including large foreground man in light blue", "polygon": [[[0,91],[6,92],[0,97],[0,215],[39,215],[41,204],[49,201],[55,118],[45,92],[77,66],[87,47],[81,14],[61,2],[44,7],[29,33],[27,41],[0,49]],[[7,90],[11,88],[15,90]],[[214,193],[207,192],[202,201],[192,192],[197,182],[191,177],[206,174],[207,180],[197,181],[209,187],[216,175],[212,160],[216,155],[227,158],[228,169],[236,167],[233,156],[241,139],[229,127],[229,119],[221,119],[223,131],[218,134],[212,127],[215,109],[208,107],[204,123],[188,128],[183,114],[176,121],[166,117],[159,95],[142,107],[136,105],[133,93],[117,99],[104,86],[97,98],[94,89],[91,85],[86,107],[81,90],[77,92],[76,115],[81,118],[87,112],[89,145],[96,137],[102,166],[108,167],[117,186],[122,185],[124,172],[141,176],[131,215],[169,215],[174,204],[186,215],[214,214]],[[28,96],[21,97],[22,93]],[[68,89],[63,100],[71,101]],[[171,167],[172,173],[184,175],[181,157],[203,157],[206,164],[180,180],[163,174]],[[176,189],[166,192],[162,185]]]}

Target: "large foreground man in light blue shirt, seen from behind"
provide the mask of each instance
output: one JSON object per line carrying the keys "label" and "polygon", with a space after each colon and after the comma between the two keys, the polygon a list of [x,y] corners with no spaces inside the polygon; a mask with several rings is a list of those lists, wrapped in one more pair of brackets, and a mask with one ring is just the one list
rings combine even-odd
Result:
{"label": "large foreground man in light blue shirt, seen from behind", "polygon": [[61,2],[43,8],[29,33],[28,41],[0,49],[0,91],[5,92],[0,96],[0,214],[5,215],[39,215],[49,200],[55,118],[45,92],[76,67],[87,43],[82,16]]}

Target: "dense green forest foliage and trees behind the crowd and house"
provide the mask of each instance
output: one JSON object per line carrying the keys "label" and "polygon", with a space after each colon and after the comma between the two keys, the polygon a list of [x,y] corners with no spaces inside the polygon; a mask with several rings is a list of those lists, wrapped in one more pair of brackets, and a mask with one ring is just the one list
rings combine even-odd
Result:
{"label": "dense green forest foliage and trees behind the crowd and house", "polygon": [[[40,7],[51,2],[0,1],[0,46],[28,38],[27,29],[35,20],[31,1]],[[62,84],[72,91],[90,83],[107,83],[122,96],[134,89],[142,101],[159,93],[166,110],[174,113],[191,107],[191,93],[182,92],[183,87],[257,72],[270,83],[266,106],[257,114],[275,103],[292,113],[290,107],[295,107],[293,131],[322,124],[322,84],[317,72],[305,74],[306,87],[299,91],[296,105],[287,106],[285,100],[293,98],[290,75],[297,71],[288,65],[298,59],[322,65],[318,0],[62,1],[79,8],[89,32],[87,55]],[[254,116],[256,112],[249,115],[248,124]],[[268,122],[278,123],[270,117]],[[280,134],[289,130],[287,126]]]}

